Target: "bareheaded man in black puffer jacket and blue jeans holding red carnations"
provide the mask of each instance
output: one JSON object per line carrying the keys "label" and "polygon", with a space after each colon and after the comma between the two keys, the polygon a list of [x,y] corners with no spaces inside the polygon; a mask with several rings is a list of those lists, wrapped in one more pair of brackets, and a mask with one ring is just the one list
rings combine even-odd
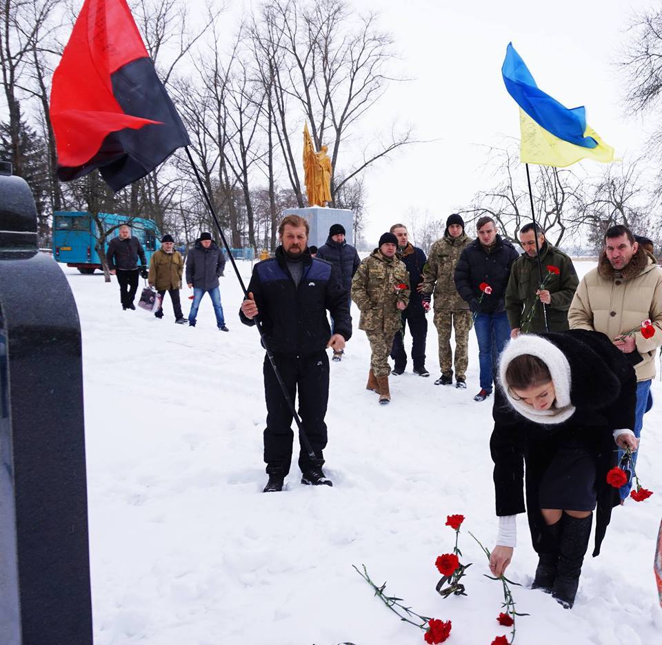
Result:
{"label": "bareheaded man in black puffer jacket and blue jeans holding red carnations", "polygon": [[492,394],[499,354],[510,338],[505,288],[519,253],[510,241],[497,235],[491,217],[481,217],[476,228],[478,237],[462,251],[454,280],[457,292],[474,315],[481,373],[481,391],[474,401],[485,401]]}

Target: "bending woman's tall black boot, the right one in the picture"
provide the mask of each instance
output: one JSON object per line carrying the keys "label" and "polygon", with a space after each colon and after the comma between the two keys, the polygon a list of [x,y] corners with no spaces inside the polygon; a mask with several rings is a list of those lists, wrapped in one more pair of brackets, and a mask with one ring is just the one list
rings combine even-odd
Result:
{"label": "bending woman's tall black boot, the right one in the picture", "polygon": [[579,586],[579,574],[591,535],[593,513],[581,519],[563,513],[559,537],[559,564],[552,596],[566,609],[572,609]]}

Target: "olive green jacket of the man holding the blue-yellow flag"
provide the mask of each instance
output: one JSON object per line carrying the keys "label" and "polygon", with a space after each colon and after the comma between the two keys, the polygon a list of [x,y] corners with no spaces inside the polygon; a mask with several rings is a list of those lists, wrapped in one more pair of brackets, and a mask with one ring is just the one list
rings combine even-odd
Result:
{"label": "olive green jacket of the man holding the blue-yellow flag", "polygon": [[[550,292],[551,302],[547,306],[547,321],[550,332],[568,329],[568,309],[579,284],[577,272],[568,255],[555,248],[547,241],[540,250],[543,266],[543,279],[548,275],[547,267],[552,265],[560,270],[559,275],[552,275],[545,284]],[[540,288],[538,257],[529,257],[523,253],[510,268],[510,279],[505,290],[505,310],[508,313],[510,328],[521,328],[529,309],[535,303],[534,317],[523,333],[540,334],[545,332],[545,319],[541,301],[536,301],[536,290]]]}

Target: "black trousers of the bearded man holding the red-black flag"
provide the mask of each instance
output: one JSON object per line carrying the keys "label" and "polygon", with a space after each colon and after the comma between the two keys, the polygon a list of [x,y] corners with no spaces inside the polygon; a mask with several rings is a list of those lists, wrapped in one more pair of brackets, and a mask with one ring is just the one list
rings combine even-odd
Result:
{"label": "black trousers of the bearded man holding the red-black flag", "polygon": [[[329,400],[329,359],[326,352],[308,356],[275,355],[274,362],[285,387],[294,401],[299,393],[299,417],[316,459],[312,461],[303,446],[299,451],[299,468],[305,473],[324,463],[322,450],[327,433],[324,417]],[[268,357],[264,357],[264,396],[267,403],[267,427],[264,430],[264,461],[267,473],[285,477],[292,462],[292,413],[283,396]],[[296,427],[296,426],[295,426]]]}

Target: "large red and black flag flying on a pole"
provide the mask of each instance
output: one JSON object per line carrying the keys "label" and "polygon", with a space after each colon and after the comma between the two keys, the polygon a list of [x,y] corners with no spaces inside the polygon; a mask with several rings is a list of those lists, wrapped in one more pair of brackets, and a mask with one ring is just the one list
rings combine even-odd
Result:
{"label": "large red and black flag flying on a pole", "polygon": [[126,0],[86,0],[53,75],[57,175],[99,168],[116,191],[190,143]]}

